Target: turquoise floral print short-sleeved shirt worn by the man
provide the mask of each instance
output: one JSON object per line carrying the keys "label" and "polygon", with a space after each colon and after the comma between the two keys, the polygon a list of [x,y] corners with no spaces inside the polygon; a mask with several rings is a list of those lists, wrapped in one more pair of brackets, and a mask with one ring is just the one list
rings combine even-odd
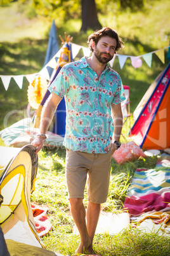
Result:
{"label": "turquoise floral print short-sleeved shirt worn by the man", "polygon": [[74,151],[106,153],[114,131],[111,104],[124,101],[124,90],[120,76],[108,64],[98,79],[86,58],[65,64],[49,91],[65,96],[63,145]]}

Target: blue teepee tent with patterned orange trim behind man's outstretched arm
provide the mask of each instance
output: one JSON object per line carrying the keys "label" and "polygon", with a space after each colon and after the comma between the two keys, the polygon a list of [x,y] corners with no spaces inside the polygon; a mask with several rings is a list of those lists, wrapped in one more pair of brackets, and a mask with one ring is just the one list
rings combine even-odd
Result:
{"label": "blue teepee tent with patterned orange trim behind man's outstretched arm", "polygon": [[[70,41],[72,40],[72,38],[70,38],[70,36],[67,36],[66,33],[65,33],[65,41],[63,40],[62,36],[60,36],[60,38],[62,39],[63,46],[61,49],[60,58],[58,59],[58,62],[56,65],[56,69],[54,69],[53,74],[51,75],[51,78],[49,80],[48,87],[55,80],[56,76],[60,72],[60,69],[62,69],[62,67],[68,62],[73,61],[72,48],[70,45]],[[49,90],[47,90],[46,94],[44,95],[41,101],[41,104],[39,105],[39,108],[37,109],[36,118],[34,120],[34,127],[36,128],[39,128],[42,107],[46,103],[46,100],[48,99],[50,94],[51,93],[49,92]],[[65,136],[65,118],[66,118],[66,108],[65,108],[65,99],[63,98],[55,112],[55,120],[53,121],[53,127],[51,129],[53,133],[58,134],[62,137]]]}

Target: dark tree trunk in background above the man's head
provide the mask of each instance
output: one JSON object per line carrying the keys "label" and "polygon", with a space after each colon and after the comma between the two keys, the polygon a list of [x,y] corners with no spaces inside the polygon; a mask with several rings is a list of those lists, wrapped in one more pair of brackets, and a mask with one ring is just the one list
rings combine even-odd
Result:
{"label": "dark tree trunk in background above the man's head", "polygon": [[101,24],[98,21],[98,15],[96,10],[95,0],[81,0],[82,8],[82,26],[81,31],[87,31],[88,29],[101,29]]}

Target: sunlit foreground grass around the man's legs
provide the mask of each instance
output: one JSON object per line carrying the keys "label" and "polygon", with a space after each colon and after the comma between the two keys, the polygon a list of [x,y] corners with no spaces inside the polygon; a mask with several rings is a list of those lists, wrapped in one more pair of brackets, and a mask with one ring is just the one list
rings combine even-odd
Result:
{"label": "sunlit foreground grass around the man's legs", "polygon": [[[131,183],[131,178],[137,167],[152,168],[157,162],[157,157],[136,159],[122,166],[117,165],[112,159],[112,172],[107,203],[102,204],[103,211],[120,213],[122,211],[126,192]],[[39,153],[39,171],[37,173],[36,191],[31,200],[36,204],[48,205],[48,218],[52,230],[42,238],[48,250],[72,255],[79,245],[79,236],[73,233],[74,222],[69,211],[67,188],[65,183],[65,150],[62,148],[51,152],[41,150]],[[84,197],[84,204],[88,201]],[[96,234],[94,248],[100,255],[130,255],[130,256],[167,256],[170,255],[169,236],[160,236],[156,232],[141,232],[129,225],[115,236],[107,233]]]}

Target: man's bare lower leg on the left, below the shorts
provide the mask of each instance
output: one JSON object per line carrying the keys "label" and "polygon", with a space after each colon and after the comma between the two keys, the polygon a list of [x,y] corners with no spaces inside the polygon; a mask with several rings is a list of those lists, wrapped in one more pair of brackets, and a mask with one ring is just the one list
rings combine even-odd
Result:
{"label": "man's bare lower leg on the left, below the shorts", "polygon": [[85,253],[91,245],[91,239],[89,238],[86,227],[86,210],[84,208],[84,204],[82,203],[82,198],[70,198],[69,200],[70,211],[81,236],[81,243],[79,244],[79,247],[75,253]]}

